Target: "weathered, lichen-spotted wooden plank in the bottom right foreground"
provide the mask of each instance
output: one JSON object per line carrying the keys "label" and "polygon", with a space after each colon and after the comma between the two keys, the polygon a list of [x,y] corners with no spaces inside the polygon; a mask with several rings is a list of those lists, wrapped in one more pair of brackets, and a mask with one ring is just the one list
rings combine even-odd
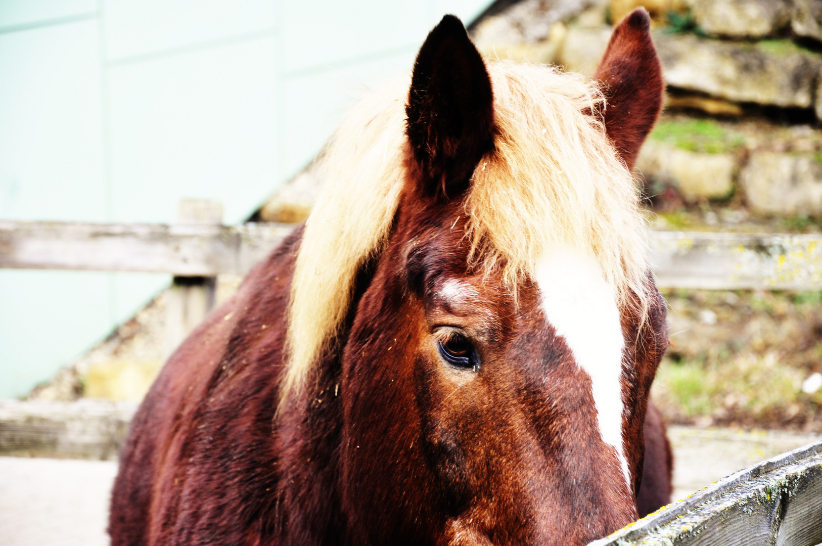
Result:
{"label": "weathered, lichen-spotted wooden plank in the bottom right foreground", "polygon": [[822,442],[675,502],[589,546],[815,546],[822,543]]}

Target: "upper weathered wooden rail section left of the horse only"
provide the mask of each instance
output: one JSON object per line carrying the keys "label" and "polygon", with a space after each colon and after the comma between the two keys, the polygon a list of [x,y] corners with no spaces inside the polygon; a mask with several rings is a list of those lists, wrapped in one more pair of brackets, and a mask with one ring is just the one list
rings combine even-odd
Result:
{"label": "upper weathered wooden rail section left of the horse only", "polygon": [[0,268],[243,274],[291,229],[0,221]]}

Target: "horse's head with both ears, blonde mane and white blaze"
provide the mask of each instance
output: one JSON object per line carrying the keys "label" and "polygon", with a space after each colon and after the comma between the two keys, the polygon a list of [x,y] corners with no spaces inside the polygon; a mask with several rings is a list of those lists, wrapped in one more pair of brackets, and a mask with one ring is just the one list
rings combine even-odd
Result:
{"label": "horse's head with both ears, blonde mane and white blaze", "polygon": [[340,183],[309,221],[286,385],[339,349],[321,388],[339,389],[340,504],[363,543],[584,544],[635,519],[667,345],[629,171],[662,94],[648,24],[617,27],[591,84],[486,67],[446,17],[404,110],[358,115],[326,152],[384,182]]}

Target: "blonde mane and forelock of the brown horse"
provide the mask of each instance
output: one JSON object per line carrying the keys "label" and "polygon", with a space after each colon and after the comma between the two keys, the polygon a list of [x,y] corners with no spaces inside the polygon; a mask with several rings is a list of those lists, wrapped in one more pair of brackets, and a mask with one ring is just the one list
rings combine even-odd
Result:
{"label": "blonde mane and forelock of the brown horse", "polygon": [[[638,299],[644,316],[644,222],[630,172],[589,115],[603,106],[598,86],[549,67],[503,61],[487,68],[497,132],[464,201],[474,261],[500,268],[515,289],[552,248],[577,248],[598,259],[617,303]],[[294,269],[280,400],[301,389],[333,349],[358,268],[389,237],[406,179],[408,87],[405,80],[363,99],[316,161],[324,189]]]}

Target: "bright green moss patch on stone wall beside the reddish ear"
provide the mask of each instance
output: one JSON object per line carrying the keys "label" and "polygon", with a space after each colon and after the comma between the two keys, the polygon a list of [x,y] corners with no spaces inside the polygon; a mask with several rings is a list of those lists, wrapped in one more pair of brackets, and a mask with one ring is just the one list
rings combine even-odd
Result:
{"label": "bright green moss patch on stone wall beside the reddish ear", "polygon": [[651,139],[666,142],[682,150],[721,154],[740,149],[745,139],[728,131],[712,119],[662,121],[650,134]]}

